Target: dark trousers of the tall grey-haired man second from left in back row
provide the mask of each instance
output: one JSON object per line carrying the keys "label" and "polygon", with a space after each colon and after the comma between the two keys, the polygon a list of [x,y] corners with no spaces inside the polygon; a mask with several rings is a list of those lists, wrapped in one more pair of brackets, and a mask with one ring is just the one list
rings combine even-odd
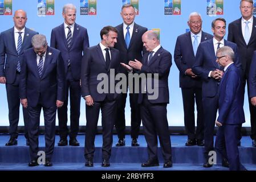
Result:
{"label": "dark trousers of the tall grey-haired man second from left in back row", "polygon": [[68,93],[70,93],[70,138],[76,138],[79,131],[81,86],[80,80],[74,80],[71,67],[68,68],[66,75],[65,100],[62,107],[58,108],[59,134],[60,138],[67,138],[68,135]]}

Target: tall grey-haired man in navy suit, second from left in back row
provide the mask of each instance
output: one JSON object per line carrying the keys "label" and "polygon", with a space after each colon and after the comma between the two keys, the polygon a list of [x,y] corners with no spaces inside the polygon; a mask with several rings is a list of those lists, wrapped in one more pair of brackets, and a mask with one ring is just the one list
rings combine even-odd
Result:
{"label": "tall grey-haired man in navy suit, second from left in back row", "polygon": [[80,70],[82,56],[87,47],[89,39],[87,29],[75,23],[76,7],[72,4],[63,6],[62,16],[64,23],[51,31],[51,47],[62,52],[66,73],[66,91],[63,107],[58,108],[59,135],[58,146],[67,145],[67,105],[68,93],[70,94],[70,141],[71,146],[79,146],[76,135],[79,131],[80,117]]}

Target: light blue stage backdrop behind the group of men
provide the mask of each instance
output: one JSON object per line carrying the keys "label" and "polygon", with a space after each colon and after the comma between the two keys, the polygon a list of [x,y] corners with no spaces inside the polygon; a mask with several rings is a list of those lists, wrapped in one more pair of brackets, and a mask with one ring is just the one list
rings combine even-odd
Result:
{"label": "light blue stage backdrop behind the group of men", "polygon": [[[111,25],[117,26],[122,23],[120,16],[121,6],[123,2],[136,3],[138,1],[125,1],[125,0],[43,0],[42,3],[47,3],[47,15],[42,16],[42,12],[38,12],[38,4],[42,0],[0,0],[0,10],[3,3],[6,3],[5,13],[6,15],[0,15],[1,27],[0,31],[5,31],[10,27],[13,27],[13,15],[8,15],[10,9],[15,10],[23,9],[27,12],[27,24],[28,28],[38,31],[40,34],[44,34],[50,44],[50,35],[52,28],[63,23],[62,7],[66,3],[74,3],[77,8],[76,23],[84,26],[88,30],[90,39],[90,46],[95,46],[100,42],[100,30],[102,27]],[[12,6],[10,5],[12,3]],[[80,11],[80,5],[84,6],[90,3],[88,7],[88,15],[85,8]],[[161,46],[167,49],[169,52],[174,52],[174,47],[178,35],[184,34],[188,30],[188,16],[193,11],[197,11],[202,16],[202,29],[212,34],[211,23],[212,20],[221,17],[225,18],[227,24],[235,19],[241,17],[239,10],[240,0],[139,0],[136,5],[139,15],[136,16],[135,22],[141,24],[148,29],[159,28],[160,29],[160,42]],[[180,3],[180,4],[179,4]],[[214,4],[215,3],[215,4]],[[223,6],[222,6],[223,3]],[[53,6],[54,5],[54,6]],[[212,7],[217,5],[217,12],[213,12]],[[10,8],[10,7],[11,8]],[[169,8],[165,9],[165,6]],[[170,6],[173,6],[173,11],[170,11]],[[219,8],[218,8],[219,7]],[[217,15],[208,15],[211,14]],[[223,15],[220,15],[222,14]],[[1,14],[1,12],[0,12]],[[41,14],[39,16],[38,14]],[[54,15],[52,15],[54,14]],[[165,15],[173,14],[173,15]],[[227,32],[226,36],[227,38]],[[181,89],[178,84],[178,69],[172,59],[172,67],[169,75],[169,92],[170,92],[170,104],[168,105],[168,122],[169,126],[184,126],[184,114],[182,106]],[[247,103],[247,90],[245,95],[245,114],[246,123],[243,126],[250,126],[250,113],[249,105]],[[21,112],[22,113],[22,112]],[[127,106],[125,108],[125,115],[127,126],[130,126],[130,109],[129,100],[127,99]],[[23,119],[21,114],[21,122],[19,125],[23,125]],[[42,117],[41,117],[42,118]],[[43,125],[43,118],[41,119],[41,125]],[[58,120],[56,122],[58,125]],[[8,126],[8,107],[6,99],[5,85],[0,85],[0,126]],[[80,125],[86,125],[85,117],[85,102],[81,102],[81,116]],[[99,119],[99,126],[101,122]]]}

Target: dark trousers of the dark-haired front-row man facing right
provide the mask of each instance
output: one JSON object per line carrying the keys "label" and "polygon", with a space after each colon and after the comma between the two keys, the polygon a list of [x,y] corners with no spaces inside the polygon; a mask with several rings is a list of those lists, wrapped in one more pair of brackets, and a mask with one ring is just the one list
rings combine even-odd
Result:
{"label": "dark trousers of the dark-haired front-row man facing right", "polygon": [[86,105],[86,141],[84,156],[86,159],[93,158],[95,152],[95,135],[97,132],[97,122],[101,109],[101,125],[103,129],[102,137],[102,158],[109,159],[113,143],[113,126],[116,117],[116,101],[94,101],[93,106]]}

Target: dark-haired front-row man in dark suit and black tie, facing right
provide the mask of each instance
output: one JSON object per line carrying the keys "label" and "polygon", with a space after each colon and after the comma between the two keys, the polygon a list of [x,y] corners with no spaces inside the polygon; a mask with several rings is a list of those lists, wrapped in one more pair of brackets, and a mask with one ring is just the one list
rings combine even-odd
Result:
{"label": "dark-haired front-row man in dark suit and black tie, facing right", "polygon": [[[115,86],[115,73],[119,72],[119,51],[114,47],[117,42],[117,30],[107,26],[100,31],[101,42],[86,49],[81,67],[82,97],[86,100],[86,143],[84,156],[86,166],[94,166],[94,140],[101,109],[103,127],[102,167],[109,167],[109,158],[113,143],[113,126],[116,117],[117,94],[109,92]],[[114,71],[114,73],[112,73]],[[97,77],[101,75],[101,79]],[[103,84],[103,86],[99,86]],[[108,86],[109,85],[109,86]]]}

